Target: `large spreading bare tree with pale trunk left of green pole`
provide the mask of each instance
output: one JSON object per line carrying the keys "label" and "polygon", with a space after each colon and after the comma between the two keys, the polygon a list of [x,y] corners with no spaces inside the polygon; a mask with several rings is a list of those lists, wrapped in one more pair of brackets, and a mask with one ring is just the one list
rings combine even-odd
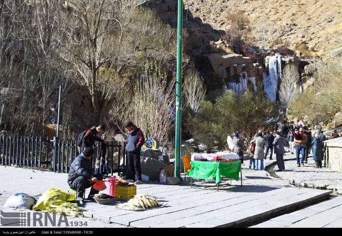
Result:
{"label": "large spreading bare tree with pale trunk left of green pole", "polygon": [[110,80],[103,72],[112,68],[118,76],[134,75],[145,59],[167,62],[173,59],[175,43],[165,34],[168,27],[137,7],[143,1],[67,2],[69,10],[61,11],[55,38],[63,48],[61,57],[77,72],[75,79],[89,89],[94,119],[101,120],[115,100]]}

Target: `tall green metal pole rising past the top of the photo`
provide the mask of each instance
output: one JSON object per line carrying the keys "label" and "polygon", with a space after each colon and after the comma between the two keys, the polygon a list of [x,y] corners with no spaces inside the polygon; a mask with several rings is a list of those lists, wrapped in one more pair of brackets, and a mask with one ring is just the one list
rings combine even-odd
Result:
{"label": "tall green metal pole rising past the top of the photo", "polygon": [[175,168],[174,176],[180,179],[180,147],[181,147],[181,106],[182,106],[182,27],[183,1],[178,0],[177,21],[177,87],[176,87],[176,137],[175,137]]}

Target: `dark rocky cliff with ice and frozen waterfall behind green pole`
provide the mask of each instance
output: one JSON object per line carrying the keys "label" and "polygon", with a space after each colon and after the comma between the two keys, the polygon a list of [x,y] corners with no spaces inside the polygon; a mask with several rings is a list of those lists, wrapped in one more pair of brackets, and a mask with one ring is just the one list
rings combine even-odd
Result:
{"label": "dark rocky cliff with ice and frozen waterfall behind green pole", "polygon": [[[242,2],[240,3],[242,4]],[[208,91],[227,89],[235,92],[242,92],[246,89],[252,91],[265,90],[271,100],[276,100],[281,80],[281,67],[289,61],[293,61],[297,65],[299,73],[301,73],[304,72],[304,66],[310,62],[310,60],[303,60],[294,56],[296,55],[295,52],[288,49],[284,44],[276,45],[276,50],[271,52],[273,56],[271,55],[266,59],[256,53],[249,53],[249,57],[236,54],[236,48],[234,49],[224,40],[223,21],[208,20],[207,17],[199,14],[202,10],[194,7],[203,5],[203,11],[206,10],[208,11],[206,14],[211,14],[210,7],[214,9],[215,6],[224,4],[227,7],[219,10],[223,14],[228,8],[227,1],[196,0],[186,4],[183,12],[184,53],[189,55],[195,62],[196,69],[200,71],[204,78]],[[161,20],[170,24],[176,33],[177,0],[152,1],[146,7],[155,9]],[[218,30],[215,29],[216,27]],[[251,50],[253,51],[253,48]],[[274,53],[282,54],[282,59],[274,56]],[[270,58],[272,58],[271,61],[274,61],[272,66],[275,67],[271,68],[271,70],[268,68]]]}

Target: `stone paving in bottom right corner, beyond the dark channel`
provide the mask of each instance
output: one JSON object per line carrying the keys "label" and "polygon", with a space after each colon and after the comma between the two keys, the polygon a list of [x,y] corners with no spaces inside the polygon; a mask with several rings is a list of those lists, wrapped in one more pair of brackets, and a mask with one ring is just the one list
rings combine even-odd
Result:
{"label": "stone paving in bottom right corner, beyond the dark channel", "polygon": [[275,217],[252,227],[342,227],[342,196]]}

